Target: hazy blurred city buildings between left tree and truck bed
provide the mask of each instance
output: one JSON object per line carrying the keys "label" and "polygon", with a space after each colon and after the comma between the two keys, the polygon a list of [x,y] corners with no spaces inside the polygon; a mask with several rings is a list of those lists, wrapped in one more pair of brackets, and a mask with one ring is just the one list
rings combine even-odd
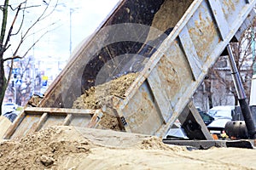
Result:
{"label": "hazy blurred city buildings between left tree and truck bed", "polygon": [[[66,60],[54,57],[35,58],[29,56],[25,59],[15,59],[3,102],[26,105],[32,94],[43,95],[66,64]],[[10,61],[7,65],[10,65]],[[7,77],[9,66],[6,66],[5,69]]]}

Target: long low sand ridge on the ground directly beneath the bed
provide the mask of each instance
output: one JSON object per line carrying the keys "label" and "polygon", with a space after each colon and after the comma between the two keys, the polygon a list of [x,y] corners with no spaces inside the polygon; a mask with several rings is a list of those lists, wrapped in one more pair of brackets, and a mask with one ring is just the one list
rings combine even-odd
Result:
{"label": "long low sand ridge on the ground directly beneath the bed", "polygon": [[[0,147],[0,167],[1,169],[55,169],[65,165],[68,167],[68,159],[89,156],[96,148],[105,150],[104,148],[136,147],[148,150],[171,150],[171,147],[161,143],[160,139],[129,133],[113,133],[114,135],[111,133],[110,130],[80,128],[78,131],[76,127],[49,127],[38,133],[28,134],[18,141],[3,141]],[[133,137],[132,142],[129,141],[131,137]]]}

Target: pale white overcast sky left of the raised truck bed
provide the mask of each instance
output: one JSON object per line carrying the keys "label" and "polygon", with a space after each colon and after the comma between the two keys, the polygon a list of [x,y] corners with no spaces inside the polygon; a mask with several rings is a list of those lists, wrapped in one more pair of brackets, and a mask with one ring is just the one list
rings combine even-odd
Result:
{"label": "pale white overcast sky left of the raised truck bed", "polygon": [[[54,1],[54,0],[52,0]],[[34,4],[41,4],[44,7],[44,1],[33,0]],[[45,0],[46,3],[49,0]],[[35,27],[35,31],[45,27],[54,31],[49,31],[30,52],[36,58],[47,59],[51,56],[59,60],[67,60],[70,57],[70,34],[72,35],[72,50],[78,46],[84,38],[89,37],[93,31],[102,23],[113,7],[119,0],[59,0],[58,6],[53,14],[50,14],[47,20],[40,22]],[[14,4],[14,3],[12,3]],[[55,4],[52,2],[51,4]],[[72,10],[72,14],[70,11]],[[32,23],[35,16],[41,13],[39,8],[32,8],[32,11],[26,13],[26,24]],[[12,19],[9,17],[9,19]],[[49,26],[55,22],[54,26]],[[10,22],[9,22],[10,23]],[[70,29],[71,28],[71,29]],[[44,32],[42,31],[42,32]],[[39,34],[38,34],[39,35]],[[31,36],[26,45],[31,44],[37,39],[37,36]],[[14,40],[14,39],[12,39]],[[12,42],[14,43],[14,42]],[[12,50],[15,45],[12,44]],[[26,50],[26,48],[21,48]],[[20,51],[22,52],[22,50]]]}

